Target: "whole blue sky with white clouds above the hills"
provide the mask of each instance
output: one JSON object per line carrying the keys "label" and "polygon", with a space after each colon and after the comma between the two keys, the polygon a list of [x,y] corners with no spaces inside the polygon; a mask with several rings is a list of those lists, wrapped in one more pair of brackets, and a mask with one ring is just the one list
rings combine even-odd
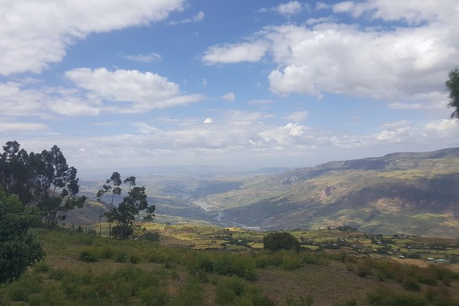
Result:
{"label": "whole blue sky with white clouds above the hills", "polygon": [[77,169],[459,145],[459,1],[0,0],[0,143]]}

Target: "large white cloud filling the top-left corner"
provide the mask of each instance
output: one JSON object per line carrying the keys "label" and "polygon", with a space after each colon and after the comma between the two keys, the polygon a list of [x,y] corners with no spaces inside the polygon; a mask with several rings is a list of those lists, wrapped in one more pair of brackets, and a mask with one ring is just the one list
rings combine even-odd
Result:
{"label": "large white cloud filling the top-left corner", "polygon": [[60,62],[75,40],[166,19],[184,0],[3,1],[0,74],[40,72]]}

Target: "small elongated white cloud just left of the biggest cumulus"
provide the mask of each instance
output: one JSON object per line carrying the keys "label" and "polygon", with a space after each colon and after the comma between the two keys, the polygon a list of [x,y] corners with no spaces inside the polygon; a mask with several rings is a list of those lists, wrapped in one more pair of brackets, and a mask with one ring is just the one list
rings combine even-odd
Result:
{"label": "small elongated white cloud just left of the biggest cumulus", "polygon": [[202,60],[206,64],[230,64],[235,62],[257,62],[268,51],[263,41],[212,46],[207,49]]}

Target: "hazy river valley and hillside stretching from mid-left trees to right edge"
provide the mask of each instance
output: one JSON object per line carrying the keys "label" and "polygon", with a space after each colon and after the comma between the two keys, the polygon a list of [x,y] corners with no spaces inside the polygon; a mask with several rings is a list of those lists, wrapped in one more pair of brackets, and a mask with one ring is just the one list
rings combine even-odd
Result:
{"label": "hazy river valley and hillside stretching from mid-left trees to right edge", "polygon": [[[152,174],[138,181],[162,222],[266,230],[349,225],[369,233],[459,237],[459,148],[332,161],[282,174],[224,173],[208,180]],[[81,191],[95,199],[103,182],[82,180]],[[87,224],[89,209],[74,211],[69,222]],[[98,222],[98,211],[92,220]]]}

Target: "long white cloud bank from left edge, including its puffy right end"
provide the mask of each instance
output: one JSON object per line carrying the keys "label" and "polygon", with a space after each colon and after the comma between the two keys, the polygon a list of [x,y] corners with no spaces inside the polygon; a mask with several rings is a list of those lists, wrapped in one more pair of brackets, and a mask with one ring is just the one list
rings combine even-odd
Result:
{"label": "long white cloud bank from left edge, including its puffy right end", "polygon": [[43,86],[40,82],[0,83],[2,115],[43,119],[143,113],[154,108],[183,106],[204,95],[183,95],[174,82],[155,73],[78,68],[65,73],[78,88]]}

